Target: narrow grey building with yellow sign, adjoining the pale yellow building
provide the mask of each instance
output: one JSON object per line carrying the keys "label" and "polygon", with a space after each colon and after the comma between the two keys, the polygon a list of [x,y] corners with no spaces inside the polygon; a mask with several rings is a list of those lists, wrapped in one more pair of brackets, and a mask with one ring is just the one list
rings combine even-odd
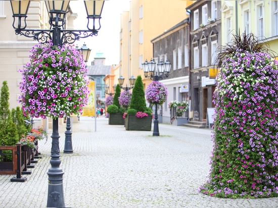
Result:
{"label": "narrow grey building with yellow sign, adjoining the pale yellow building", "polygon": [[196,1],[190,13],[190,97],[191,119],[205,121],[213,108],[216,87],[215,64],[221,44],[221,1]]}

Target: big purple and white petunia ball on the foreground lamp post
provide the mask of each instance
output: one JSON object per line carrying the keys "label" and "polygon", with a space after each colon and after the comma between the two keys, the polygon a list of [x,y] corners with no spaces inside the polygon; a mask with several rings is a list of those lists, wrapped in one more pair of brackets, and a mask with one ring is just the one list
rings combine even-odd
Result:
{"label": "big purple and white petunia ball on the foreground lamp post", "polygon": [[22,109],[35,118],[81,114],[88,100],[85,62],[73,46],[36,44],[19,70]]}

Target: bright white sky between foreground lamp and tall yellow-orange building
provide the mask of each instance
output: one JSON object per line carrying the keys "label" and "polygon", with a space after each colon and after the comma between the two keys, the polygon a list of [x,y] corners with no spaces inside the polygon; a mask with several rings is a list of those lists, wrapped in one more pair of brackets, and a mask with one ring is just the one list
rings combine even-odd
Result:
{"label": "bright white sky between foreground lamp and tall yellow-orange building", "polygon": [[[123,11],[129,11],[130,0],[109,0],[105,1],[101,18],[101,29],[98,36],[81,38],[75,42],[75,45],[81,47],[85,42],[86,46],[91,49],[89,61],[87,65],[91,65],[91,61],[98,51],[104,53],[105,65],[113,65],[119,63],[120,50],[120,14]],[[77,13],[78,17],[74,21],[74,29],[87,29],[86,11],[83,1],[71,1],[71,9],[73,13]]]}

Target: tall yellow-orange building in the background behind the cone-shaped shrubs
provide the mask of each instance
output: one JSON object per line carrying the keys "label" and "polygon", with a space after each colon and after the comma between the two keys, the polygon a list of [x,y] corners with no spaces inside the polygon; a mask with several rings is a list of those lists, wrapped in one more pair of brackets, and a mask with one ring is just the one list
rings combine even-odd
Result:
{"label": "tall yellow-orange building in the background behind the cone-shaped shrubs", "polygon": [[[130,11],[121,15],[120,75],[125,78],[142,76],[144,87],[152,81],[145,79],[142,63],[153,58],[151,39],[184,20],[186,7],[194,1],[132,0]],[[172,60],[169,60],[170,62]]]}

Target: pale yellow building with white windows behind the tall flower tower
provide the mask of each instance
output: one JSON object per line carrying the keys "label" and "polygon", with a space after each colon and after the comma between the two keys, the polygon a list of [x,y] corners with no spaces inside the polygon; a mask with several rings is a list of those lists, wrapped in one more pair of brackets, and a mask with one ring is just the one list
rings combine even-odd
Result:
{"label": "pale yellow building with white windows behind the tall flower tower", "polygon": [[[253,33],[278,52],[278,1],[223,1],[222,45],[233,34]],[[277,55],[276,55],[277,56]]]}

